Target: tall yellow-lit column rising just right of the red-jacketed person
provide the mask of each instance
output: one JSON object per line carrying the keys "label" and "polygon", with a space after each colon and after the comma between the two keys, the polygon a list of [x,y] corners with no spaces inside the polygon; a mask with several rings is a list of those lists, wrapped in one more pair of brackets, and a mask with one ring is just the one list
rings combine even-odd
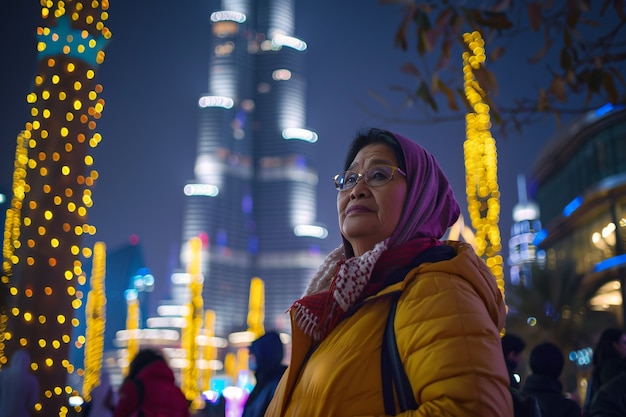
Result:
{"label": "tall yellow-lit column rising just right of the red-jacketed person", "polygon": [[187,366],[182,369],[181,389],[188,400],[195,400],[200,395],[198,388],[198,359],[197,338],[202,328],[203,300],[202,300],[202,241],[194,237],[189,240],[191,262],[188,266],[189,288],[191,300],[187,309],[187,325],[183,328],[182,348],[187,356]]}

